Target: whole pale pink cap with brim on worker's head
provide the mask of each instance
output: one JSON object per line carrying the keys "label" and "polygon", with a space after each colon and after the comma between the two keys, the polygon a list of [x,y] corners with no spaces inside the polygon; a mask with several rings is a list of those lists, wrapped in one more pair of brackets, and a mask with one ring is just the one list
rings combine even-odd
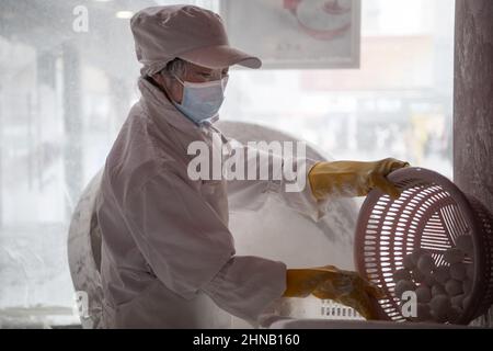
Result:
{"label": "whole pale pink cap with brim on worker's head", "polygon": [[222,68],[259,68],[262,61],[229,46],[221,18],[194,5],[152,7],[130,20],[142,76],[153,75],[179,57],[193,64]]}

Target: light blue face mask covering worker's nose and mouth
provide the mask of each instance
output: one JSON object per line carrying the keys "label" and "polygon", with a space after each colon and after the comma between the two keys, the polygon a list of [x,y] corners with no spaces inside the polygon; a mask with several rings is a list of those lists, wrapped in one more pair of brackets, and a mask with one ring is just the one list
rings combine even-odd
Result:
{"label": "light blue face mask covering worker's nose and mouth", "polygon": [[204,121],[208,121],[218,114],[219,107],[225,100],[228,77],[202,83],[183,82],[176,76],[175,78],[183,86],[182,103],[173,102],[180,112],[195,124],[202,124]]}

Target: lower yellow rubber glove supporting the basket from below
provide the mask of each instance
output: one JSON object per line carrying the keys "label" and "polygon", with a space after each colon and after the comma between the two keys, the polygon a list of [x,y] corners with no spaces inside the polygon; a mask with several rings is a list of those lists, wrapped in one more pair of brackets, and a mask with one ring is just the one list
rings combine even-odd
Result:
{"label": "lower yellow rubber glove supporting the basket from below", "polygon": [[343,271],[334,265],[287,270],[285,297],[333,299],[353,307],[366,319],[378,319],[375,305],[383,292],[356,272]]}

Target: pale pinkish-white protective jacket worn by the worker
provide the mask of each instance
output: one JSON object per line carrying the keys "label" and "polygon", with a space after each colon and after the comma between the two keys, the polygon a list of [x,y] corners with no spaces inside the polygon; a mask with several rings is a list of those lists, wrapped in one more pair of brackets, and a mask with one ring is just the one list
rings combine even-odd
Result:
{"label": "pale pinkish-white protective jacket worn by the worker", "polygon": [[[217,306],[254,321],[285,291],[286,265],[234,256],[227,191],[250,210],[274,194],[313,219],[323,215],[321,204],[308,183],[285,192],[284,180],[191,180],[190,143],[211,145],[218,131],[196,126],[145,78],[139,89],[107,156],[96,203],[103,326],[225,327]],[[314,163],[299,161],[306,171]]]}

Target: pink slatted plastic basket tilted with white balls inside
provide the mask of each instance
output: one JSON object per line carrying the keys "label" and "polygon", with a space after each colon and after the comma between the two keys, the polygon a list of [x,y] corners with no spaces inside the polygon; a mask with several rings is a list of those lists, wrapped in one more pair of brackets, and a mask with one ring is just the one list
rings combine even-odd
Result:
{"label": "pink slatted plastic basket tilted with white balls inside", "polygon": [[471,235],[474,276],[470,303],[454,324],[469,324],[493,302],[493,216],[451,181],[423,168],[404,168],[388,176],[402,190],[391,200],[372,190],[364,202],[355,237],[358,272],[380,286],[386,298],[378,302],[380,318],[408,320],[400,312],[392,274],[403,268],[403,258],[423,248],[436,264],[447,264],[444,252],[460,235]]}

